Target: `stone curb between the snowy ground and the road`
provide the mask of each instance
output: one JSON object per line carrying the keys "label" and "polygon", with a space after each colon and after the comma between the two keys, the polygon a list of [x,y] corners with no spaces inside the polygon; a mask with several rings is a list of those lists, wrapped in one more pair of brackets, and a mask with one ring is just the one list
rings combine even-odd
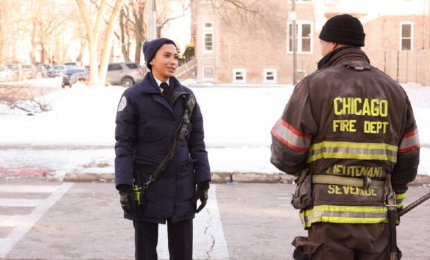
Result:
{"label": "stone curb between the snowy ground and the road", "polygon": [[[284,173],[211,173],[212,183],[293,183],[295,177]],[[67,173],[65,182],[114,182],[114,173]],[[430,185],[430,176],[417,175],[411,186]]]}

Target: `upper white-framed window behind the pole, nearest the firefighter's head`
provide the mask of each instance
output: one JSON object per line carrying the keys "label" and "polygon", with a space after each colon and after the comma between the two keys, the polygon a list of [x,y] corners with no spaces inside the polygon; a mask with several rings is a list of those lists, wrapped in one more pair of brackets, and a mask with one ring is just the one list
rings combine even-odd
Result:
{"label": "upper white-framed window behind the pole, nearest the firefighter's head", "polygon": [[[297,52],[312,53],[312,23],[310,21],[296,21]],[[293,24],[288,26],[288,52],[293,52]]]}

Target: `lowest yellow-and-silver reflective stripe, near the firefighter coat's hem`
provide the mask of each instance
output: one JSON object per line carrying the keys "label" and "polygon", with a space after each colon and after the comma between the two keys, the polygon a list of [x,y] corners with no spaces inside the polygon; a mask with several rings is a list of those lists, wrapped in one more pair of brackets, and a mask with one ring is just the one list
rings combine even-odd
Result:
{"label": "lowest yellow-and-silver reflective stripe, near the firefighter coat's hem", "polygon": [[360,206],[318,205],[300,212],[300,220],[304,228],[312,223],[352,223],[375,224],[387,222],[387,208]]}

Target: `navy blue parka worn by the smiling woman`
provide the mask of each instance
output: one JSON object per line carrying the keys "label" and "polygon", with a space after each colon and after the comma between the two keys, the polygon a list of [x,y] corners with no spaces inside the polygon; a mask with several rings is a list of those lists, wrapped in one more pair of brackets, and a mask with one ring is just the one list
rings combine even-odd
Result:
{"label": "navy blue parka worn by the smiling woman", "polygon": [[[184,113],[184,96],[192,94],[172,77],[173,88],[169,104],[151,72],[144,80],[123,93],[117,111],[115,130],[115,185],[132,185],[133,179],[141,183],[169,153],[173,134],[178,130]],[[196,184],[210,181],[210,168],[205,148],[203,116],[198,104],[193,109],[188,125],[188,135],[175,157],[154,182],[145,190],[144,213],[131,220],[165,223],[194,218]]]}

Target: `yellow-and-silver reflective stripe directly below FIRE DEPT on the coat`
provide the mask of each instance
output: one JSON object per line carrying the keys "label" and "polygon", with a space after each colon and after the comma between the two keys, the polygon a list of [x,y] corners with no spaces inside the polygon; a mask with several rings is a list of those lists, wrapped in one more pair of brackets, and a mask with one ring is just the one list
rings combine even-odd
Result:
{"label": "yellow-and-silver reflective stripe directly below FIRE DEPT on the coat", "polygon": [[375,159],[397,162],[397,146],[349,141],[322,141],[309,149],[307,162],[318,159]]}

